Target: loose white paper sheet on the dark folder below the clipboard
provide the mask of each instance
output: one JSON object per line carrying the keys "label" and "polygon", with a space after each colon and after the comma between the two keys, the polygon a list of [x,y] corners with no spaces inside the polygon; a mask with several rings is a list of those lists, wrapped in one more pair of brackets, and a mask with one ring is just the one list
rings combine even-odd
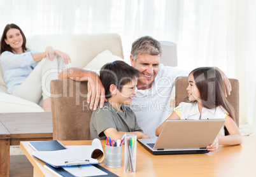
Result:
{"label": "loose white paper sheet on the dark folder below the clipboard", "polygon": [[87,165],[87,166],[75,166],[75,167],[63,167],[66,171],[73,174],[74,176],[82,177],[82,176],[99,176],[99,175],[107,175],[108,173],[105,173],[101,169],[98,169],[97,167]]}

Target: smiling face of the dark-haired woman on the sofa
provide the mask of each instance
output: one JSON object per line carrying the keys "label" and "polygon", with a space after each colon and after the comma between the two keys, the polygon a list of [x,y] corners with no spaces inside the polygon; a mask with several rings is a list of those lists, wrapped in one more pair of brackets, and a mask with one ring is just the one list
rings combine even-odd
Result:
{"label": "smiling face of the dark-haired woman on the sofa", "polygon": [[22,34],[18,29],[11,28],[6,32],[6,39],[4,39],[5,43],[7,45],[10,45],[10,47],[14,50],[14,52],[20,54],[23,53],[22,50],[22,44],[23,44],[23,38]]}

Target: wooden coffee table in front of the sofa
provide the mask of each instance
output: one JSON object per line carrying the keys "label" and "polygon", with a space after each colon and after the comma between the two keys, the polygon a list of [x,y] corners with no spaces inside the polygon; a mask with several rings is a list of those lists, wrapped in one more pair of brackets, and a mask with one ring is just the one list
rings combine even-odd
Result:
{"label": "wooden coffee table in front of the sofa", "polygon": [[10,176],[10,146],[52,140],[52,113],[0,113],[0,176]]}

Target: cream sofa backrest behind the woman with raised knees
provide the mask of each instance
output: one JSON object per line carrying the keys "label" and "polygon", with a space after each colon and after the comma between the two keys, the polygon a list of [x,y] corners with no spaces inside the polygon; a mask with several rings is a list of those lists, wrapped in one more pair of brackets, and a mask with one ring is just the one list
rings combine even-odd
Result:
{"label": "cream sofa backrest behind the woman with raised knees", "polygon": [[[27,38],[27,48],[44,52],[46,46],[66,52],[71,57],[68,67],[85,67],[97,54],[109,50],[113,55],[124,59],[122,41],[118,34],[52,34],[36,35]],[[1,64],[0,64],[1,67]],[[0,69],[0,92],[6,92]]]}

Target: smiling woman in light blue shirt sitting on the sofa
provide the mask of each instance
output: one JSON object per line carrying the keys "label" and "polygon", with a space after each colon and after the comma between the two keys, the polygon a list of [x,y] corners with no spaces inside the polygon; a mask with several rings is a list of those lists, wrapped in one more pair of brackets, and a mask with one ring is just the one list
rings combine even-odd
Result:
{"label": "smiling woman in light blue shirt sitting on the sofa", "polygon": [[50,81],[57,79],[60,69],[71,59],[67,53],[53,50],[52,46],[38,53],[27,49],[25,43],[20,27],[6,25],[1,38],[0,62],[7,92],[37,104],[43,96],[43,110],[51,111]]}

